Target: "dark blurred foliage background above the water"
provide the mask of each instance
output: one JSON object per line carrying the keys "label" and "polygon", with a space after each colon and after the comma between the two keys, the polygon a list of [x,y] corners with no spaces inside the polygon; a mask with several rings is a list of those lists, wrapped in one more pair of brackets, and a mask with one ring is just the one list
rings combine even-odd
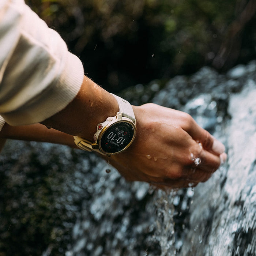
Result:
{"label": "dark blurred foliage background above the water", "polygon": [[26,0],[105,89],[256,58],[255,0]]}

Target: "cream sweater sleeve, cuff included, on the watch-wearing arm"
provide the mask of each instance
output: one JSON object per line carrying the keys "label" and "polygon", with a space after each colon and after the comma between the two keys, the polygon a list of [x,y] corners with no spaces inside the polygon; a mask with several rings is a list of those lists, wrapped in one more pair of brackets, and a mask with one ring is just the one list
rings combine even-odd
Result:
{"label": "cream sweater sleeve, cuff included, on the watch-wearing arm", "polygon": [[1,0],[0,49],[0,114],[8,124],[39,123],[75,98],[81,61],[24,0]]}

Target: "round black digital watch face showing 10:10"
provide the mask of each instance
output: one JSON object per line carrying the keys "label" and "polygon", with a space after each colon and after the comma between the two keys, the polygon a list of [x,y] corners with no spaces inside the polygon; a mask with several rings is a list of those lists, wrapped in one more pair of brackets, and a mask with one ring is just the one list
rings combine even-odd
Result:
{"label": "round black digital watch face showing 10:10", "polygon": [[99,146],[106,153],[118,153],[132,142],[133,134],[134,128],[131,123],[124,121],[114,123],[103,133]]}

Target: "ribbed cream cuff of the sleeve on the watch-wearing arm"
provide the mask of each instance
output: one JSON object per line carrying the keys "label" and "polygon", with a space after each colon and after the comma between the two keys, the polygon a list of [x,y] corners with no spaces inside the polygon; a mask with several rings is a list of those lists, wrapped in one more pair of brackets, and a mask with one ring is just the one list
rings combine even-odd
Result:
{"label": "ribbed cream cuff of the sleeve on the watch-wearing arm", "polygon": [[83,65],[78,57],[69,53],[65,67],[58,80],[37,97],[26,109],[2,113],[5,121],[13,126],[34,124],[44,121],[63,110],[78,94],[83,83]]}

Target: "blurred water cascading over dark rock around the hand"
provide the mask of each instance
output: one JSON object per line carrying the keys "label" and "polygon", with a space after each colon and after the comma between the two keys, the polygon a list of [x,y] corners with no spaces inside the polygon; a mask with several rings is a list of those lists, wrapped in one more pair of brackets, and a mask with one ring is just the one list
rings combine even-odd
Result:
{"label": "blurred water cascading over dark rock around the hand", "polygon": [[0,254],[256,255],[256,62],[121,96],[190,113],[225,144],[227,162],[195,188],[161,191],[126,182],[93,154],[9,142],[0,156]]}

